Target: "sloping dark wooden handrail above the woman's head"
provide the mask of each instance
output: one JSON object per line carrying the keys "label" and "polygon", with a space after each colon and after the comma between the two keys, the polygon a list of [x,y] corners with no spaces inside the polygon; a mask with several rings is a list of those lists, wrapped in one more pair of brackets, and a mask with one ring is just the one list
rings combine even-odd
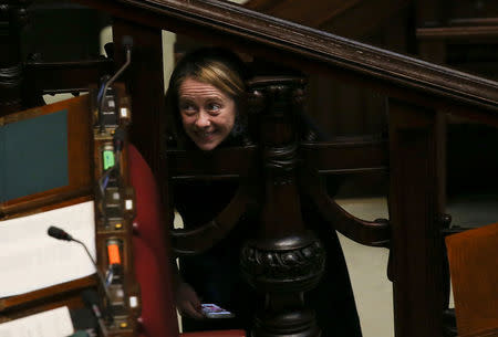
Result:
{"label": "sloping dark wooden handrail above the woman's head", "polygon": [[[396,86],[498,109],[498,83],[280,20],[220,0],[79,0],[116,17],[209,39],[222,34],[286,51],[289,57],[340,67]],[[181,23],[181,24],[179,24]],[[264,54],[264,53],[263,53]],[[268,54],[264,54],[268,56]],[[281,60],[281,54],[279,55]],[[302,64],[302,63],[301,63]],[[377,84],[378,85],[378,84]]]}

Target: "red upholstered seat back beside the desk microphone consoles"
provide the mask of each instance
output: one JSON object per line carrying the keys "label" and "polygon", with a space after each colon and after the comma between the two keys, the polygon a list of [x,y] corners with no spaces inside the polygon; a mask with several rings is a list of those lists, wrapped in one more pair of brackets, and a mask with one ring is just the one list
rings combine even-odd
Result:
{"label": "red upholstered seat back beside the desk microphone consoles", "polygon": [[[132,186],[136,196],[134,265],[142,293],[141,337],[178,337],[169,282],[169,242],[154,175],[134,146],[128,146]],[[245,337],[243,330],[183,334],[181,337]]]}

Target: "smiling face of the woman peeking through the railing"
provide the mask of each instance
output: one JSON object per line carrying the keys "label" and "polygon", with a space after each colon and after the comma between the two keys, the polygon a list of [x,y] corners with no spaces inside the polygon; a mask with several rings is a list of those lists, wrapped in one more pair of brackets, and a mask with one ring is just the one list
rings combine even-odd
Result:
{"label": "smiling face of the woman peeking through the railing", "polygon": [[187,77],[178,89],[184,129],[201,149],[212,150],[234,128],[236,104],[215,86]]}

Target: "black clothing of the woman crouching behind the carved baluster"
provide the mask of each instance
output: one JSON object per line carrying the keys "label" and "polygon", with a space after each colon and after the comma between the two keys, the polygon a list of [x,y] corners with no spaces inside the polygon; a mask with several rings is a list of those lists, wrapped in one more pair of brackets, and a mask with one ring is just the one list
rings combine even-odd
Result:
{"label": "black clothing of the woman crouching behind the carved baluster", "polygon": [[[210,221],[229,203],[236,190],[237,182],[234,181],[176,185],[175,206],[185,228]],[[326,250],[325,273],[320,284],[305,294],[307,305],[315,310],[323,337],[360,337],[360,322],[338,235],[307,200],[302,200],[302,208],[304,223],[315,232]],[[194,320],[184,317],[185,331],[249,330],[252,326],[258,295],[240,276],[239,253],[243,241],[253,235],[256,221],[257,218],[251,220],[246,215],[227,238],[205,254],[180,259],[181,275],[196,289],[201,302],[215,303],[236,314],[232,319]]]}

